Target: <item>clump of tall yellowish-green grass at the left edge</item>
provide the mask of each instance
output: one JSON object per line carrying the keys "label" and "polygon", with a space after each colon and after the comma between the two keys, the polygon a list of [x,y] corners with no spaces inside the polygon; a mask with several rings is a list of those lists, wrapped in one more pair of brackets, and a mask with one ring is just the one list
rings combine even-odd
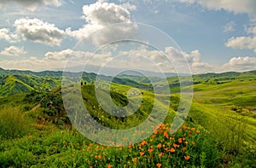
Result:
{"label": "clump of tall yellowish-green grass at the left edge", "polygon": [[29,132],[28,120],[19,107],[0,109],[0,139],[24,136]]}

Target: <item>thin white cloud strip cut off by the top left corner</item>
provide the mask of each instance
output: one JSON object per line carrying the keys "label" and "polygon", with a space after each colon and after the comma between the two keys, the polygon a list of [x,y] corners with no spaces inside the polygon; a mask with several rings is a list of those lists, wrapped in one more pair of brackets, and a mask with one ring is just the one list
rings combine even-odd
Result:
{"label": "thin white cloud strip cut off by the top left corner", "polygon": [[41,5],[61,6],[62,0],[1,0],[0,8],[10,8],[12,5],[19,5],[25,9],[34,11]]}

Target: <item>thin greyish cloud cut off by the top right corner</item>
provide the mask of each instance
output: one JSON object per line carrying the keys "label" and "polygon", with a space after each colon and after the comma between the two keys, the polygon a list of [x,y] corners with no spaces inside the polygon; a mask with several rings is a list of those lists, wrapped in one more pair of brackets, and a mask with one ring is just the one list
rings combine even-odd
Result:
{"label": "thin greyish cloud cut off by the top right corner", "polygon": [[248,14],[252,19],[256,14],[255,0],[177,0],[181,3],[198,3],[202,7],[212,10],[224,9],[235,14]]}

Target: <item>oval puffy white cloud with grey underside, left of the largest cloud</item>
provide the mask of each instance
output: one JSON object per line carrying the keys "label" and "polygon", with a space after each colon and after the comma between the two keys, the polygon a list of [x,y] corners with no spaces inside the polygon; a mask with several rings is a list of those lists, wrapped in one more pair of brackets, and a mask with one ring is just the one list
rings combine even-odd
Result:
{"label": "oval puffy white cloud with grey underside, left of the largest cloud", "polygon": [[16,32],[23,38],[35,43],[44,43],[50,46],[60,45],[65,32],[53,24],[38,19],[15,20]]}

